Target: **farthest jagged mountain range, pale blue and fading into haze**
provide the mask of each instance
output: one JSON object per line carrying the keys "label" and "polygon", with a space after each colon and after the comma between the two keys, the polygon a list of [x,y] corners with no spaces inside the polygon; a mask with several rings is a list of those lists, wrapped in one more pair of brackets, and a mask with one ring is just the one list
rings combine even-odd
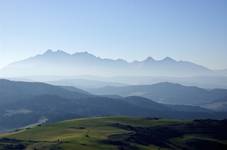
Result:
{"label": "farthest jagged mountain range, pale blue and fading into haze", "polygon": [[170,57],[127,62],[123,59],[104,59],[88,52],[68,54],[47,50],[41,55],[12,63],[1,70],[5,76],[31,75],[96,75],[96,76],[193,76],[212,74],[213,71],[187,61]]}

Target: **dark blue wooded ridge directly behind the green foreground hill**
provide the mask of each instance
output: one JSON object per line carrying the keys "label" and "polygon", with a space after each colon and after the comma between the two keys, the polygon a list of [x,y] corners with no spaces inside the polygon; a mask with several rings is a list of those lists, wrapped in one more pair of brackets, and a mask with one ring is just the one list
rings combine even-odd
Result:
{"label": "dark blue wooded ridge directly behind the green foreground hill", "polygon": [[96,96],[73,87],[0,80],[0,131],[48,119],[127,115],[178,119],[223,118],[195,106],[174,106],[138,97]]}

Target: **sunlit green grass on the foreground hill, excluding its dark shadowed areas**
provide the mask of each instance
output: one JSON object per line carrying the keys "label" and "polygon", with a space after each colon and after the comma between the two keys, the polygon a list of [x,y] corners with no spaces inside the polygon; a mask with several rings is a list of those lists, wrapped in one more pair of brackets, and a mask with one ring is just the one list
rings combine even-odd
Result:
{"label": "sunlit green grass on the foreground hill, excluding its dark shadowed areas", "polygon": [[[113,124],[123,124],[135,127],[155,127],[176,124],[185,124],[188,122],[177,120],[152,120],[145,118],[129,117],[104,117],[76,119],[59,122],[51,125],[43,125],[26,129],[18,133],[5,134],[3,137],[20,140],[28,150],[34,149],[79,149],[79,150],[115,150],[119,149],[116,145],[105,143],[111,135],[129,133],[130,131],[114,127]],[[187,139],[196,136],[184,137],[182,139],[172,139],[175,143],[182,143]],[[200,137],[201,138],[201,137]],[[154,145],[142,146],[131,143],[129,146],[136,145],[139,149],[160,149]],[[1,149],[1,143],[0,143]],[[130,149],[130,148],[129,148]],[[163,148],[164,150],[164,148]]]}

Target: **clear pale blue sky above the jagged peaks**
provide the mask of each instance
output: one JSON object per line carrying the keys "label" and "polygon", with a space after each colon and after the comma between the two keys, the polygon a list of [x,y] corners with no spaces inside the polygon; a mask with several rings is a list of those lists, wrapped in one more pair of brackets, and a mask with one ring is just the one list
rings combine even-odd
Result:
{"label": "clear pale blue sky above the jagged peaks", "polygon": [[0,67],[47,49],[227,68],[227,0],[0,0]]}

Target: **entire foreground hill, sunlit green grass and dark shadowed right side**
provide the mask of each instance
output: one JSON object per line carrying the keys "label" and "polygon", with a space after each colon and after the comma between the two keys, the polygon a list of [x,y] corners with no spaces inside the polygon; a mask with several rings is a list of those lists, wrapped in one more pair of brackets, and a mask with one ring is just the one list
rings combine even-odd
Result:
{"label": "entire foreground hill, sunlit green grass and dark shadowed right side", "polygon": [[[9,150],[226,149],[226,121],[97,117],[0,135]],[[215,131],[215,132],[214,132]],[[208,146],[208,147],[207,147]]]}

